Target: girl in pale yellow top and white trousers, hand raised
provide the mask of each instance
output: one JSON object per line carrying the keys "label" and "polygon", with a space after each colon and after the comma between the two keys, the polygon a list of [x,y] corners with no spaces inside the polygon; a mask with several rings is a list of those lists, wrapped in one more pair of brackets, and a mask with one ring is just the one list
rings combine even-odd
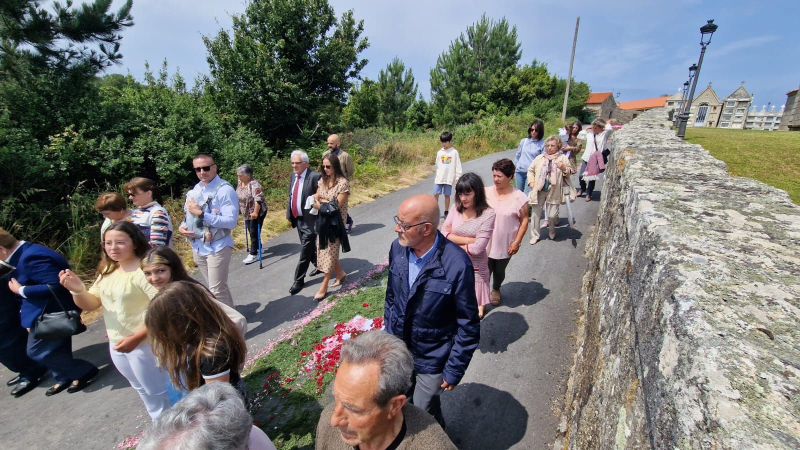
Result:
{"label": "girl in pale yellow top and white trousers, hand raised", "polygon": [[98,279],[88,291],[72,271],[58,274],[62,286],[72,292],[75,304],[84,311],[102,307],[110,340],[111,360],[136,389],[155,419],[170,407],[166,395],[167,376],[159,368],[147,341],[145,314],[158,289],[147,283],[139,263],[150,248],[138,227],[115,222],[102,241],[103,253]]}

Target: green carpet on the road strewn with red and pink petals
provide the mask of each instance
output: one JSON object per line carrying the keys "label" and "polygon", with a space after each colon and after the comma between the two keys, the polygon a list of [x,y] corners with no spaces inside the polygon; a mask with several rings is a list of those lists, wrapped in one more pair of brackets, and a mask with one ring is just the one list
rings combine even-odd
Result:
{"label": "green carpet on the road strewn with red and pink petals", "polygon": [[[382,317],[386,294],[386,266],[378,266],[366,279],[342,288],[301,319],[265,349],[250,357],[244,380],[254,397],[250,412],[254,424],[266,432],[279,450],[314,448],[314,434],[322,412],[322,397],[335,371],[317,376],[304,365],[321,341],[334,334],[338,323],[356,315]],[[253,353],[251,352],[251,355]]]}

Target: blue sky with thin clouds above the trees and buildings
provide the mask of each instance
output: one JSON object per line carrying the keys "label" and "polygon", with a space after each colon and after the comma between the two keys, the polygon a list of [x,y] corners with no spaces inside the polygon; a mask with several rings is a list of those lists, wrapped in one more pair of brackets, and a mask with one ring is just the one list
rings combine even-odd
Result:
{"label": "blue sky with thin clouds above the trees and buildings", "polygon": [[[682,86],[700,53],[699,28],[710,18],[719,29],[706,50],[697,92],[713,82],[722,98],[746,81],[757,105],[780,106],[786,92],[800,85],[797,0],[329,1],[337,14],[353,9],[364,19],[370,48],[363,57],[370,62],[362,74],[377,78],[396,55],[414,70],[426,98],[438,54],[484,12],[517,26],[521,62],[536,58],[564,77],[580,16],[573,76],[595,92],[619,92],[618,101],[673,94]],[[229,29],[230,14],[244,9],[241,0],[134,0],[136,25],[123,34],[123,64],[110,71],[142,78],[146,61],[158,68],[166,58],[170,72],[179,67],[187,79],[207,73],[201,36]]]}

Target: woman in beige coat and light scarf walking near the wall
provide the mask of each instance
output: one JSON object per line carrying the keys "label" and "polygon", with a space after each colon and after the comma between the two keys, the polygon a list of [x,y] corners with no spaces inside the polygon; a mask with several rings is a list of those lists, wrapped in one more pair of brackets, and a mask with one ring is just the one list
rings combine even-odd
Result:
{"label": "woman in beige coat and light scarf walking near the wall", "polygon": [[[564,194],[562,187],[569,183],[570,175],[574,168],[566,155],[558,153],[562,140],[552,135],[545,139],[545,151],[530,163],[528,168],[528,203],[533,210],[534,226],[530,227],[530,245],[539,242],[539,216],[542,208],[547,207],[550,220],[550,239],[555,239],[555,224],[558,223],[558,206],[561,205]],[[566,180],[566,181],[565,181]]]}

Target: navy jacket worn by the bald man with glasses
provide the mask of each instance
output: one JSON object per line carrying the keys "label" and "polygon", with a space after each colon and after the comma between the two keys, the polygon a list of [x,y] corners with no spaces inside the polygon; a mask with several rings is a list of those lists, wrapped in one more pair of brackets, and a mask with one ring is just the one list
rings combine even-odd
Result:
{"label": "navy jacket worn by the bald man with glasses", "polygon": [[442,373],[455,385],[481,339],[475,272],[466,251],[436,232],[434,254],[410,289],[408,248],[394,239],[383,322],[386,331],[406,342],[415,372]]}

